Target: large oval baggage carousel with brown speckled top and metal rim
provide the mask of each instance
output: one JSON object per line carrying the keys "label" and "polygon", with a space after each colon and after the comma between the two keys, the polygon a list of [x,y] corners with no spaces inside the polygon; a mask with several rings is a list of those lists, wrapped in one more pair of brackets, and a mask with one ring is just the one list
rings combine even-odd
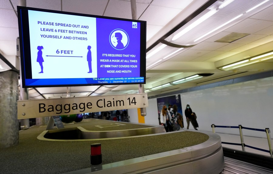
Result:
{"label": "large oval baggage carousel with brown speckled top and metal rim", "polygon": [[[206,131],[168,132],[162,126],[84,120],[19,133],[19,145],[0,149],[0,173],[187,173],[224,169],[221,138]],[[90,164],[101,143],[102,163]]]}

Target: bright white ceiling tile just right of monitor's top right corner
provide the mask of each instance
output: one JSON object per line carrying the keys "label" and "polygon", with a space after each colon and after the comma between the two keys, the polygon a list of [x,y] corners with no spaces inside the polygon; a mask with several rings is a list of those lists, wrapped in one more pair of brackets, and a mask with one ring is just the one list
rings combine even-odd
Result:
{"label": "bright white ceiling tile just right of monitor's top right corner", "polygon": [[139,19],[146,20],[147,24],[165,26],[179,12],[181,9],[150,5]]}

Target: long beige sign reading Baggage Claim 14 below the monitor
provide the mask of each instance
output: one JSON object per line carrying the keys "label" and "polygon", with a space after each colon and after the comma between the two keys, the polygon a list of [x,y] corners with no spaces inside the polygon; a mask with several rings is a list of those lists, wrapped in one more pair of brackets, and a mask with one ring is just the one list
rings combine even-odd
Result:
{"label": "long beige sign reading Baggage Claim 14 below the monitor", "polygon": [[116,96],[70,97],[60,99],[19,100],[18,119],[143,108],[148,106],[147,93]]}

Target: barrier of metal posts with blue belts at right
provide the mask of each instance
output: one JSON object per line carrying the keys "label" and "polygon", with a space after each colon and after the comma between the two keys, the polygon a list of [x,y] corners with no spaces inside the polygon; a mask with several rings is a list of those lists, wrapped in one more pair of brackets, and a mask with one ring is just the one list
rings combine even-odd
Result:
{"label": "barrier of metal posts with blue belts at right", "polygon": [[[265,128],[265,129],[255,129],[255,128],[249,128],[249,127],[242,127],[242,125],[239,125],[239,126],[216,126],[216,125],[214,125],[214,124],[212,124],[211,127],[212,127],[212,132],[213,132],[213,133],[215,133],[215,127],[239,128],[240,137],[241,137],[241,144],[239,144],[239,143],[228,143],[228,142],[222,142],[222,144],[231,144],[231,145],[242,146],[242,150],[243,150],[243,151],[245,151],[245,147],[248,147],[248,148],[256,149],[256,150],[259,150],[259,151],[268,152],[268,153],[270,153],[271,158],[273,158],[273,150],[272,150],[271,136],[270,136],[270,130],[269,130],[269,128]],[[249,146],[249,145],[247,145],[247,144],[244,144],[244,137],[243,137],[243,131],[242,131],[242,129],[248,129],[248,130],[252,130],[252,131],[261,131],[261,132],[265,132],[265,133],[266,133],[266,137],[267,137],[267,141],[268,141],[269,150],[265,150],[265,149],[261,149],[261,148],[256,148],[256,147],[253,147],[253,146]]]}

